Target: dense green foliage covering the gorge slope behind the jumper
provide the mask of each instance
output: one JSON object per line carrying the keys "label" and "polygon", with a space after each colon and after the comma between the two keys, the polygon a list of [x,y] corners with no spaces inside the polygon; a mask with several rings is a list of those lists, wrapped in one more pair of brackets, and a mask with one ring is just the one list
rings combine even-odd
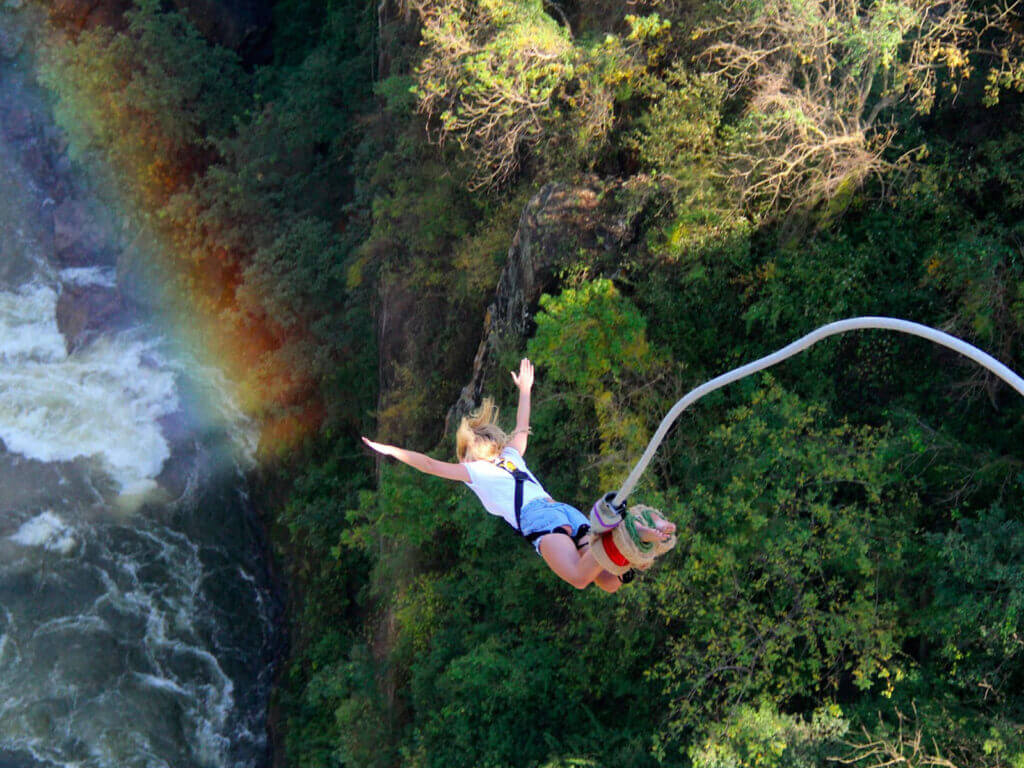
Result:
{"label": "dense green foliage covering the gorge slope behind the jumper", "polygon": [[585,175],[629,182],[635,237],[566,246],[487,382],[511,407],[505,364],[538,364],[530,464],[560,498],[828,321],[905,316],[1024,368],[1019,11],[275,9],[271,65],[140,0],[48,81],[171,244],[171,301],[243,351],[292,585],[285,762],[1024,766],[1024,404],[951,353],[863,333],[702,400],[637,492],[681,545],[614,597],[357,442],[451,455],[519,213]]}

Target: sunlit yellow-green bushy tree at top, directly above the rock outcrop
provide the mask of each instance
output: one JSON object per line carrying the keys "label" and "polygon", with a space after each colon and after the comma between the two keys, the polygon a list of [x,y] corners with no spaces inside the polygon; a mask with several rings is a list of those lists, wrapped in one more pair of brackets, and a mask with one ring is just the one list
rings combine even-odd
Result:
{"label": "sunlit yellow-green bushy tree at top, directly above the rock outcrop", "polygon": [[[629,15],[629,33],[577,42],[541,0],[422,0],[419,109],[458,142],[472,188],[501,186],[540,158],[570,172],[605,148],[616,102],[657,59],[668,29]],[[553,6],[549,6],[553,7]],[[564,23],[564,15],[561,19]]]}

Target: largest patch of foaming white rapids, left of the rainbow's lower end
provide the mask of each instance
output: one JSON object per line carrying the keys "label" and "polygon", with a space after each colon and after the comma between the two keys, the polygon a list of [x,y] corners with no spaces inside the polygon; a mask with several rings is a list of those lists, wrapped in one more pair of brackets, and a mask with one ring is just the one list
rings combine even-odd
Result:
{"label": "largest patch of foaming white rapids, left of the rainbow's lower end", "polygon": [[178,408],[174,375],[143,364],[153,342],[125,334],[69,355],[56,301],[41,285],[0,292],[0,439],[41,462],[92,459],[122,493],[156,487],[170,458],[158,419]]}

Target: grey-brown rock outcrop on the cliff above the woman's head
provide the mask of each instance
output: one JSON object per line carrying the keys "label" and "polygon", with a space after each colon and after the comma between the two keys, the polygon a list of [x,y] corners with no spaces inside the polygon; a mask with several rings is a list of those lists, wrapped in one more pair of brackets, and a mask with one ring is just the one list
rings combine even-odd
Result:
{"label": "grey-brown rock outcrop on the cliff above the woman's head", "polygon": [[549,183],[526,204],[484,314],[472,377],[449,412],[445,434],[479,402],[494,352],[529,334],[541,294],[555,287],[566,255],[579,261],[581,254],[588,254],[598,273],[618,262],[636,237],[643,210],[633,189],[637,185],[599,179]]}

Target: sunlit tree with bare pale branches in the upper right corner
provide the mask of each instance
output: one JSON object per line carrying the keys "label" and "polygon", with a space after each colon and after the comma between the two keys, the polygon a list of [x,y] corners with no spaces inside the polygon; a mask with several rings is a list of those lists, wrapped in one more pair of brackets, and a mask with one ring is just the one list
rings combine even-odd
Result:
{"label": "sunlit tree with bare pale branches in the upper right corner", "polygon": [[893,109],[931,111],[976,69],[987,100],[1020,88],[1010,6],[957,1],[728,0],[701,57],[743,92],[728,167],[753,212],[813,207],[893,169]]}

